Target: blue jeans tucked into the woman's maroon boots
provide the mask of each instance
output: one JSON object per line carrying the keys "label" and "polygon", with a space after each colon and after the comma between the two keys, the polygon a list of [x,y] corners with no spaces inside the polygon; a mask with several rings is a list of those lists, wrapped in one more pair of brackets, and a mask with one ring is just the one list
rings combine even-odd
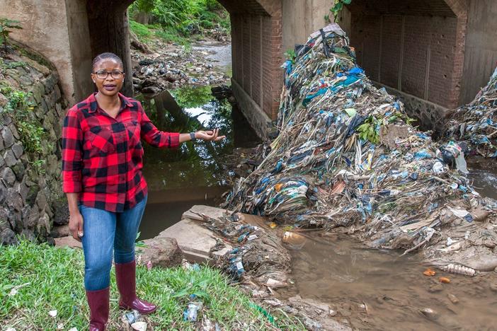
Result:
{"label": "blue jeans tucked into the woman's maroon boots", "polygon": [[114,250],[115,263],[135,260],[135,240],[147,197],[121,213],[79,204],[83,216],[84,287],[87,291],[106,289]]}

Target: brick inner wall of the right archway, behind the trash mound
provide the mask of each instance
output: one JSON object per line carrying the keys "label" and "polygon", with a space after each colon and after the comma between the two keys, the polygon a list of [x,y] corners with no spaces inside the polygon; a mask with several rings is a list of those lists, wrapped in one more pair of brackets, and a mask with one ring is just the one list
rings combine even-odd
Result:
{"label": "brick inner wall of the right archway, behind the trash mound", "polygon": [[420,1],[416,11],[409,1],[392,7],[358,0],[349,7],[358,63],[379,83],[454,108],[464,64],[464,1],[431,1],[425,8]]}

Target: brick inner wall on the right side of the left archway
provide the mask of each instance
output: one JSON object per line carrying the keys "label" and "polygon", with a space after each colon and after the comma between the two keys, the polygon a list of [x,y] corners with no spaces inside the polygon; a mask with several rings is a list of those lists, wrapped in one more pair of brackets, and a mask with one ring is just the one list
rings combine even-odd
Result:
{"label": "brick inner wall on the right side of the left archway", "polygon": [[282,86],[281,1],[230,1],[226,5],[232,20],[233,79],[275,120]]}

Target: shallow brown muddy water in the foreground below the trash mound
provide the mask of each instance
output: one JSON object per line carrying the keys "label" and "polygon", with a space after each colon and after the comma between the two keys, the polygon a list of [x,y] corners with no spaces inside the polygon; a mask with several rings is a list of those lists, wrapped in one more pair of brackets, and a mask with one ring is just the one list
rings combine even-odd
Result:
{"label": "shallow brown muddy water in the foreground below the trash mound", "polygon": [[[497,330],[495,273],[462,277],[437,270],[435,277],[426,277],[416,256],[367,250],[345,238],[312,238],[291,250],[297,294],[329,303],[352,327]],[[438,277],[449,277],[450,284]],[[459,302],[452,303],[449,295]],[[427,317],[423,308],[435,310],[435,316]]]}

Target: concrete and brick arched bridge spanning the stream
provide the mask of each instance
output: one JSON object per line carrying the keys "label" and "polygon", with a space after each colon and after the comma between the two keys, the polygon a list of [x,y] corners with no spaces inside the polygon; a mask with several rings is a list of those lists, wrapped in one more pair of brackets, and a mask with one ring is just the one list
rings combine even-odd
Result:
{"label": "concrete and brick arched bridge spanning the stream", "polygon": [[[127,7],[133,0],[0,0],[21,21],[13,37],[50,59],[70,102],[93,91],[91,59],[115,52],[130,73]],[[232,86],[256,131],[278,112],[282,54],[321,28],[331,0],[219,0],[232,23]],[[338,23],[367,74],[426,122],[471,100],[497,62],[495,0],[353,0]],[[128,74],[130,76],[130,74]],[[132,93],[132,81],[125,82]]]}

